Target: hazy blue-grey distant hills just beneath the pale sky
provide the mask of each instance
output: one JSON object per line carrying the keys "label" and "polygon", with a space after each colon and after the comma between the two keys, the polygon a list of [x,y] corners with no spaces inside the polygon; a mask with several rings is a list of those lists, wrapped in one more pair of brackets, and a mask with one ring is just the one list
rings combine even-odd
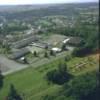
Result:
{"label": "hazy blue-grey distant hills just beneath the pale sky", "polygon": [[33,17],[43,17],[52,15],[72,15],[77,14],[76,8],[98,8],[98,3],[78,3],[78,4],[48,4],[48,5],[13,5],[0,6],[0,16],[6,19],[25,19]]}

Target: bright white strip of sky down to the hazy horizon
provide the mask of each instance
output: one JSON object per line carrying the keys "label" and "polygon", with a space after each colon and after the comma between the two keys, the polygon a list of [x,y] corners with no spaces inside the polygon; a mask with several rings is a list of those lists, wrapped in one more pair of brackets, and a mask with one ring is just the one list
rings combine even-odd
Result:
{"label": "bright white strip of sky down to the hazy horizon", "polygon": [[77,3],[98,3],[98,0],[39,0],[34,1],[34,0],[26,0],[26,1],[19,1],[19,0],[0,0],[0,6],[6,6],[6,5],[49,5],[49,4],[77,4]]}

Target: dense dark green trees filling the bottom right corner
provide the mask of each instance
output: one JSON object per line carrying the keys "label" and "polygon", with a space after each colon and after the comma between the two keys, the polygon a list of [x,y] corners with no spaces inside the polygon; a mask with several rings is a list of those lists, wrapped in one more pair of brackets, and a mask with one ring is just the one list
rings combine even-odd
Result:
{"label": "dense dark green trees filling the bottom right corner", "polygon": [[98,99],[97,75],[95,72],[87,73],[74,78],[69,84],[64,85],[66,96],[72,96],[76,100]]}

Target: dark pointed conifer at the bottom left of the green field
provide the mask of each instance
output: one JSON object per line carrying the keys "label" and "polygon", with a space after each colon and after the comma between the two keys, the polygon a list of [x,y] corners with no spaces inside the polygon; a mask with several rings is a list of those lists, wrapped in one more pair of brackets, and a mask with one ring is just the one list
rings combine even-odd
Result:
{"label": "dark pointed conifer at the bottom left of the green field", "polygon": [[10,85],[10,91],[8,93],[7,100],[22,100],[22,97],[18,94],[13,84]]}

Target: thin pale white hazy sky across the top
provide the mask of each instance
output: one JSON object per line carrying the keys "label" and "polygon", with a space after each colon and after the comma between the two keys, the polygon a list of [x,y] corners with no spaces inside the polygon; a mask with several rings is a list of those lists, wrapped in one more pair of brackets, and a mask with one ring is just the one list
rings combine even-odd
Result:
{"label": "thin pale white hazy sky across the top", "polygon": [[6,4],[47,4],[70,2],[98,2],[99,0],[0,0],[0,5]]}

